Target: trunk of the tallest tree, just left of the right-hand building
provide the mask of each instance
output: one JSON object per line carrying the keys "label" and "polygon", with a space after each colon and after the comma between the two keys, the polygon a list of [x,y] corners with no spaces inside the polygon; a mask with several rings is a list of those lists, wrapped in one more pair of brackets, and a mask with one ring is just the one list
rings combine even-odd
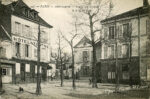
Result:
{"label": "trunk of the tallest tree, just left of the right-hand building", "polygon": [[93,60],[92,60],[92,87],[97,88],[97,78],[96,78],[96,48],[95,48],[95,41],[94,41],[94,32],[93,32],[93,23],[92,17],[89,16],[90,19],[90,32],[91,32],[91,40],[92,40],[92,47],[93,47]]}

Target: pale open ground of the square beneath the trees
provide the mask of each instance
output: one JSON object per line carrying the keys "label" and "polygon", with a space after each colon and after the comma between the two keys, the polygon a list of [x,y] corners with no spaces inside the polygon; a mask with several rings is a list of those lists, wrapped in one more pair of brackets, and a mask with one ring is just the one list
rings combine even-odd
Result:
{"label": "pale open ground of the square beneath the trees", "polygon": [[[19,92],[19,87],[24,89],[24,92]],[[60,87],[60,81],[50,81],[41,84],[42,95],[35,94],[36,84],[3,84],[5,93],[0,96],[0,99],[87,99],[99,95],[110,95],[115,90],[115,84],[98,84],[98,88],[92,88],[87,82],[76,81],[76,89],[72,89],[71,81],[64,81],[64,86]],[[128,85],[120,85],[119,90],[126,92],[131,90]],[[97,99],[97,98],[96,98]],[[99,98],[98,98],[99,99]],[[141,99],[141,98],[140,98]]]}

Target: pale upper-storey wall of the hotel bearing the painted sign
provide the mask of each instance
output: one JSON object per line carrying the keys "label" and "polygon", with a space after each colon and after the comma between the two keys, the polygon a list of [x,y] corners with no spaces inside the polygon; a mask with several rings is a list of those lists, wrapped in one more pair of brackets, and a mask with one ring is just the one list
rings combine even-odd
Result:
{"label": "pale upper-storey wall of the hotel bearing the painted sign", "polygon": [[[21,44],[28,44],[30,46],[30,57],[26,58],[23,56],[23,54],[21,55],[22,59],[29,59],[29,60],[36,60],[37,58],[34,55],[34,51],[37,49],[37,34],[38,34],[38,24],[19,18],[17,16],[12,15],[11,16],[11,25],[12,25],[12,38],[13,38],[13,49],[15,50],[15,42],[21,42]],[[20,23],[20,34],[16,34],[15,31],[15,22],[19,22]],[[28,36],[26,36],[25,31],[24,31],[24,26],[28,25],[30,27],[30,34]],[[43,62],[48,62],[50,60],[50,29],[45,27],[45,26],[41,26],[41,35],[42,31],[44,31],[46,33],[46,35],[44,37],[47,37],[48,42],[43,43],[41,46],[41,61]],[[23,42],[23,41],[18,41],[15,40],[16,39],[23,39],[26,40],[27,42]],[[34,43],[34,44],[33,44]],[[21,52],[23,53],[24,48],[21,48]],[[13,55],[13,57],[15,57],[15,55]]]}

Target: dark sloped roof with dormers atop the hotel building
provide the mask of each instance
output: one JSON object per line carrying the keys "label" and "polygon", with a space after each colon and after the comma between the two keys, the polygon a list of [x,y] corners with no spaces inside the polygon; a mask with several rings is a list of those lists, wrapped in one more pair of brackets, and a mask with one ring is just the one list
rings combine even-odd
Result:
{"label": "dark sloped roof with dormers atop the hotel building", "polygon": [[46,26],[48,28],[52,28],[53,26],[51,26],[50,24],[48,24],[44,19],[42,19],[39,15],[37,16],[37,18],[32,18],[31,16],[27,17],[25,14],[22,13],[22,8],[28,8],[31,11],[34,11],[36,13],[38,13],[36,10],[31,9],[27,4],[25,4],[22,0],[18,0],[16,2],[12,2],[8,5],[6,5],[9,9],[13,10],[14,15],[22,17],[24,19],[27,19],[29,21],[33,21],[38,23],[38,19],[40,20],[40,24],[43,26]]}

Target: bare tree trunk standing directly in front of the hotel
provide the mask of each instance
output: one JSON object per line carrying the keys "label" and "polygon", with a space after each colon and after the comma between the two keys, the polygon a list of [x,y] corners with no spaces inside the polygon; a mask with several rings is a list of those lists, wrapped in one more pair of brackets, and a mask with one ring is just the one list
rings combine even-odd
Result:
{"label": "bare tree trunk standing directly in front of the hotel", "polygon": [[36,87],[36,94],[41,95],[42,90],[41,90],[41,76],[40,76],[40,46],[41,46],[41,31],[40,31],[40,23],[38,26],[38,48],[37,48],[37,87]]}

